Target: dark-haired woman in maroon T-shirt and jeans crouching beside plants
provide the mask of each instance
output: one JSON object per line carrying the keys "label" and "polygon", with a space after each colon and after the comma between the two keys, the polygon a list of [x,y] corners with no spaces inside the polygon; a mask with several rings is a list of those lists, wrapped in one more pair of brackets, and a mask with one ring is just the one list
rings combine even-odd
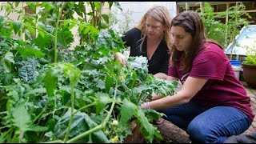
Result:
{"label": "dark-haired woman in maroon T-shirt and jeans crouching beside plants", "polygon": [[176,94],[153,94],[151,108],[186,130],[192,142],[222,143],[242,134],[254,119],[246,89],[235,77],[222,46],[206,38],[198,13],[178,14],[171,22],[172,46],[168,80],[180,80]]}

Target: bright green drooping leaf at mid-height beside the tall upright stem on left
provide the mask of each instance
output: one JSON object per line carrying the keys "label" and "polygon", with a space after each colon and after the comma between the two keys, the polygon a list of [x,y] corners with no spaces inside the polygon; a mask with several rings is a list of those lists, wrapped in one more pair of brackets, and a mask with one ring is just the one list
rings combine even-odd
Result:
{"label": "bright green drooping leaf at mid-height beside the tall upright stem on left", "polygon": [[45,86],[47,94],[50,97],[54,96],[54,90],[56,89],[56,86],[58,84],[58,73],[57,70],[49,69],[46,71],[46,77],[45,80]]}

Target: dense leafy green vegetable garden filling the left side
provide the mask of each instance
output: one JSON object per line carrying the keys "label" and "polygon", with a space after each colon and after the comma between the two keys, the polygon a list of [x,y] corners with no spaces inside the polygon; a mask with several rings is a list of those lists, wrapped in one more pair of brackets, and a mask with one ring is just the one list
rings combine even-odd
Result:
{"label": "dense leafy green vegetable garden filling the left side", "polygon": [[[102,14],[106,2],[6,2],[0,15],[0,142],[124,142],[136,119],[146,142],[160,118],[140,105],[178,82],[148,74],[144,57],[114,61],[125,43]],[[109,8],[118,2],[107,2]],[[17,10],[28,6],[35,14]],[[18,20],[10,13],[19,14]],[[74,18],[78,14],[78,18]],[[80,42],[71,29],[78,26]],[[14,38],[13,35],[18,35]]]}

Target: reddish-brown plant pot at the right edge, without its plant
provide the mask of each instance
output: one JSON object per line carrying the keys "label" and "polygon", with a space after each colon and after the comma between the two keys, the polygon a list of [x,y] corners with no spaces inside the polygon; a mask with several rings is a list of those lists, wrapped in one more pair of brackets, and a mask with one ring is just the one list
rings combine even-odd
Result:
{"label": "reddish-brown plant pot at the right edge, without its plant", "polygon": [[256,64],[242,64],[242,69],[243,78],[245,78],[245,81],[248,84],[248,86],[256,88]]}

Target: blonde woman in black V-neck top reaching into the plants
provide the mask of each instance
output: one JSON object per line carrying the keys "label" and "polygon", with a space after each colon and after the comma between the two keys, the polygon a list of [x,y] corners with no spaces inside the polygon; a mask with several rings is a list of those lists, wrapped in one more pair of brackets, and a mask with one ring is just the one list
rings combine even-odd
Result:
{"label": "blonde woman in black V-neck top reaching into the plants", "polygon": [[[152,6],[143,15],[137,26],[123,34],[122,40],[130,46],[130,56],[148,59],[149,74],[166,78],[170,59],[170,14],[165,6]],[[115,54],[122,65],[126,65],[123,54]]]}

